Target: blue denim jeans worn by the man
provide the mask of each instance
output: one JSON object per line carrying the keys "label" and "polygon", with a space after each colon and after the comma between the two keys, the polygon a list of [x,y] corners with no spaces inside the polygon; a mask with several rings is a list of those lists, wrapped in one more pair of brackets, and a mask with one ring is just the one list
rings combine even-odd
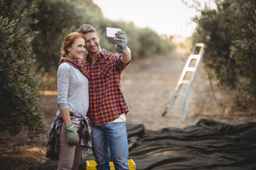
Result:
{"label": "blue denim jeans worn by the man", "polygon": [[109,149],[115,170],[129,170],[127,162],[129,150],[125,122],[91,127],[91,140],[97,170],[110,170]]}

